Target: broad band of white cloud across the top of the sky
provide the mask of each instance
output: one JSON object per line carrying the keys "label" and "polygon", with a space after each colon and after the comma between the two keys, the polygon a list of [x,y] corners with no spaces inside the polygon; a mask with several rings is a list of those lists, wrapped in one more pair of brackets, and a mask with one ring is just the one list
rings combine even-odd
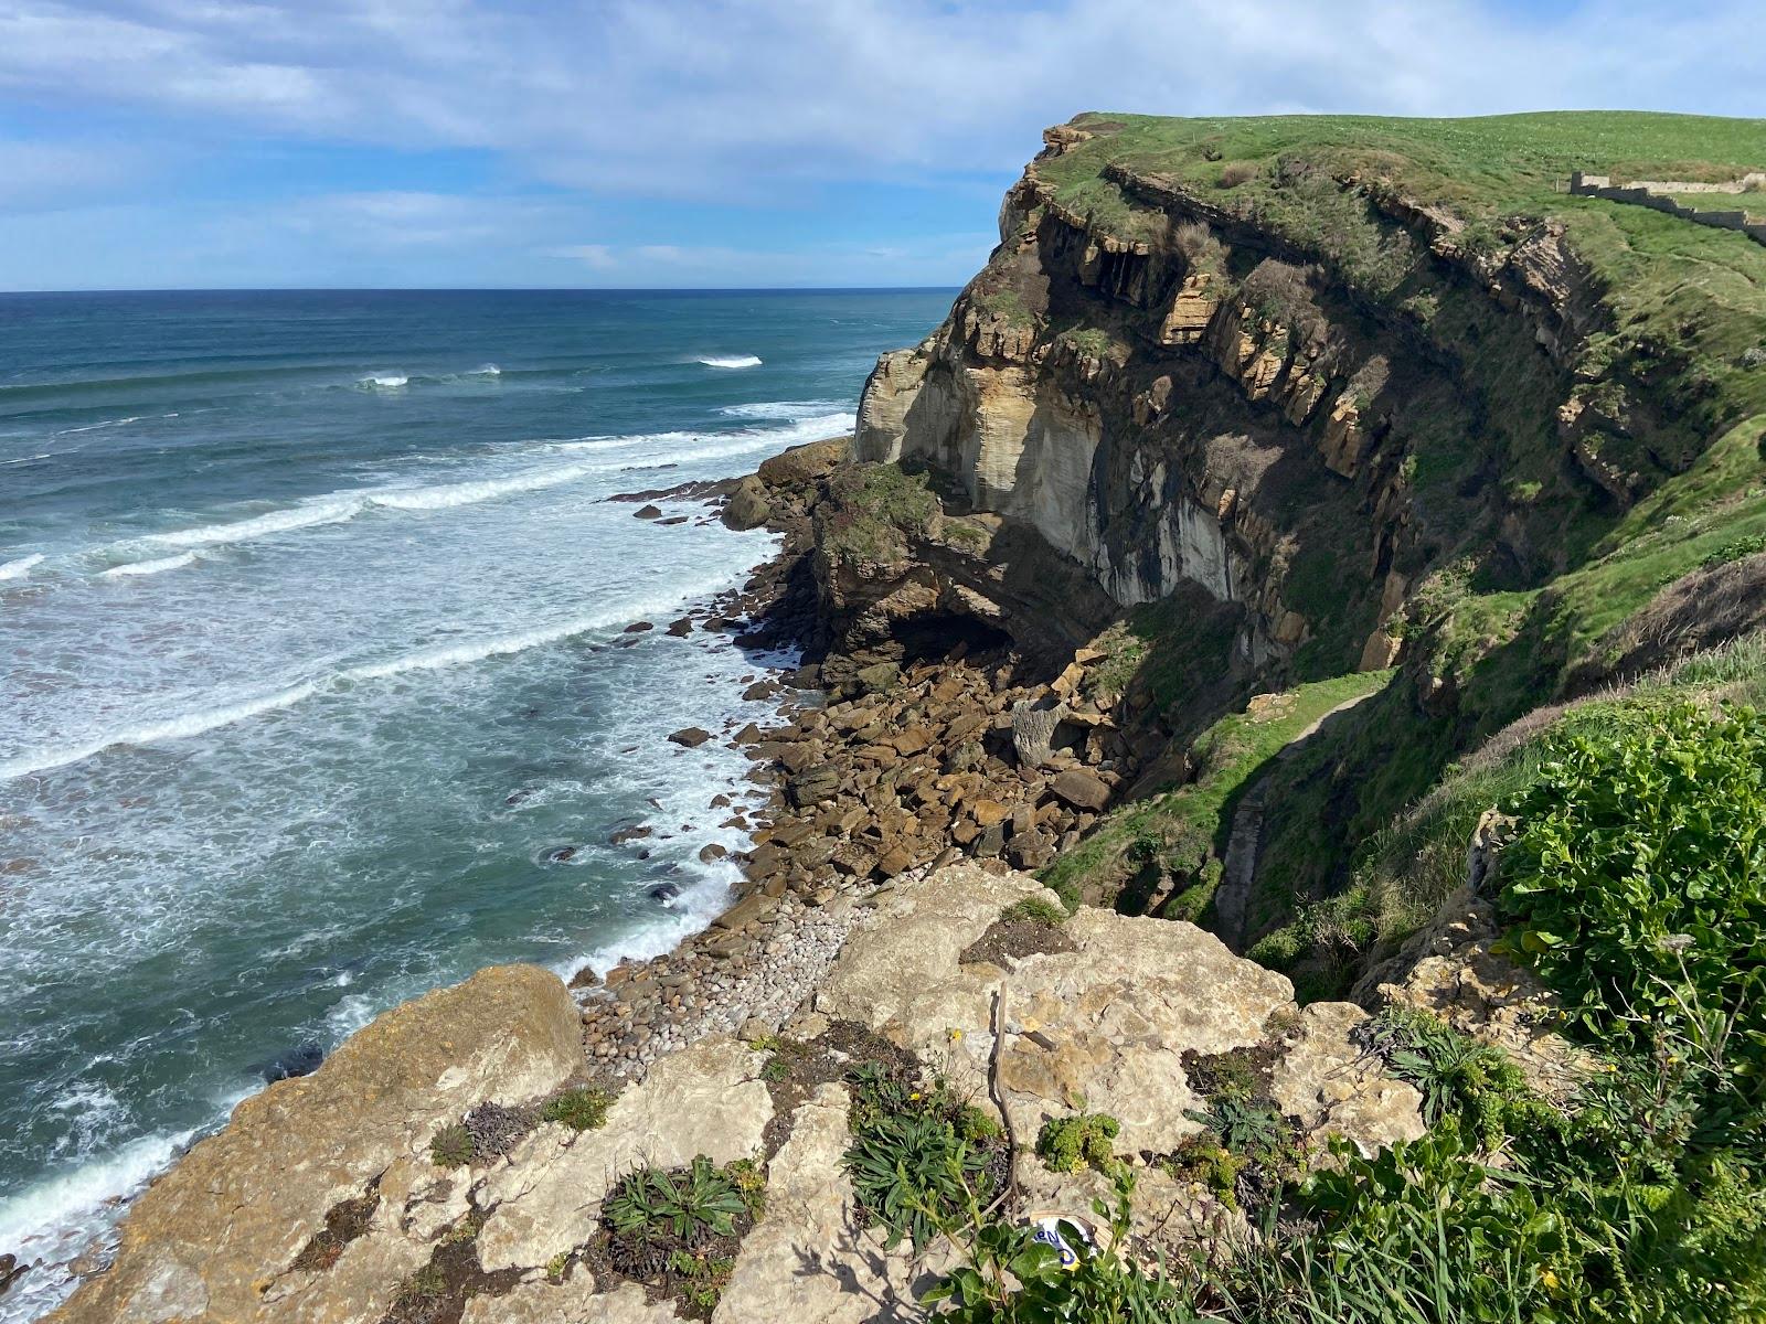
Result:
{"label": "broad band of white cloud across the top of the sky", "polygon": [[0,0],[0,88],[376,145],[592,191],[763,201],[1014,169],[1086,108],[1748,113],[1754,0],[1545,19],[1473,0]]}

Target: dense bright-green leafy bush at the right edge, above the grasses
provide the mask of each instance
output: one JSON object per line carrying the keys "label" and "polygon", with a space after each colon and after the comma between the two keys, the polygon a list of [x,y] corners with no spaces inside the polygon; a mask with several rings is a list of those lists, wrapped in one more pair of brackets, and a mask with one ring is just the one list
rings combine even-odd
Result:
{"label": "dense bright-green leafy bush at the right edge, above the grasses", "polygon": [[1766,1068],[1766,720],[1635,701],[1612,734],[1565,733],[1508,801],[1513,946],[1584,1031],[1731,1042]]}

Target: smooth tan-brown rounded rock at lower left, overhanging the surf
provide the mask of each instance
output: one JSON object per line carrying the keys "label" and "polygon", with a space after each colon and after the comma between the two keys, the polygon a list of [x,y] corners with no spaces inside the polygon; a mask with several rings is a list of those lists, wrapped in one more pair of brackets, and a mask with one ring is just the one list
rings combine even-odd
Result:
{"label": "smooth tan-brown rounded rock at lower left, overhanging the surf", "polygon": [[[313,1075],[240,1103],[136,1200],[109,1273],[49,1319],[373,1324],[431,1253],[403,1232],[406,1206],[466,1209],[466,1181],[429,1162],[429,1140],[480,1102],[562,1086],[581,1070],[579,1033],[570,994],[537,966],[496,966],[392,1008]],[[327,1211],[376,1181],[371,1229],[330,1269],[297,1269]]]}

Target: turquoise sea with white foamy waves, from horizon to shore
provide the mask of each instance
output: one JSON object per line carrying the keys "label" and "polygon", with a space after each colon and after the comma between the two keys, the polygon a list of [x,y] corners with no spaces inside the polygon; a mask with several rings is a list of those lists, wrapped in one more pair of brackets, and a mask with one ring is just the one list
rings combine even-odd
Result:
{"label": "turquoise sea with white foamy waves, from horizon to shore", "polygon": [[948,298],[0,297],[0,1320],[277,1056],[715,913],[745,764],[662,736],[759,662],[622,628],[770,540],[606,498],[848,429]]}

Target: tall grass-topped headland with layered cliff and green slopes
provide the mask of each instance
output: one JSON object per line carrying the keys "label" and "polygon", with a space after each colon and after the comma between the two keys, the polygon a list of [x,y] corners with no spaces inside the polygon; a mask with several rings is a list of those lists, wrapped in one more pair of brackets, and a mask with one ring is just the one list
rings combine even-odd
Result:
{"label": "tall grass-topped headland with layered cliff and green slopes", "polygon": [[1632,129],[1748,178],[1757,139],[1720,124],[1045,132],[985,268],[865,383],[858,461],[929,470],[1114,604],[1137,743],[1169,741],[1137,800],[1210,798],[1187,784],[1259,690],[1379,690],[1204,812],[1106,824],[1056,881],[1312,948],[1296,920],[1455,757],[1766,620],[1766,572],[1740,563],[1766,528],[1761,249],[1568,196]]}

